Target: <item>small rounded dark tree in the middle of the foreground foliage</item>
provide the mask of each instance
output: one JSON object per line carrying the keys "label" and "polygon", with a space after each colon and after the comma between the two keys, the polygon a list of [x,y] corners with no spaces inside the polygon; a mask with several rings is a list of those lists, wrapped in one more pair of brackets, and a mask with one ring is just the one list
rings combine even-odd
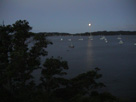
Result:
{"label": "small rounded dark tree in the middle of the foreground foliage", "polygon": [[67,69],[68,64],[66,61],[62,61],[61,57],[46,59],[41,72],[41,86],[48,97],[50,97],[56,89],[60,88],[60,86],[62,87],[67,84],[68,80],[62,77],[67,74],[63,70]]}

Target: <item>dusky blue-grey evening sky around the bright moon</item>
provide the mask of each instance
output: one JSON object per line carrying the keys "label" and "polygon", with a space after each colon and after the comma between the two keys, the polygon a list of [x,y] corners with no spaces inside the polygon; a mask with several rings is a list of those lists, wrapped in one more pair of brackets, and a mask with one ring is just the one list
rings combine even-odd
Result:
{"label": "dusky blue-grey evening sky around the bright moon", "polygon": [[33,32],[136,31],[136,0],[0,0],[0,24],[20,19]]}

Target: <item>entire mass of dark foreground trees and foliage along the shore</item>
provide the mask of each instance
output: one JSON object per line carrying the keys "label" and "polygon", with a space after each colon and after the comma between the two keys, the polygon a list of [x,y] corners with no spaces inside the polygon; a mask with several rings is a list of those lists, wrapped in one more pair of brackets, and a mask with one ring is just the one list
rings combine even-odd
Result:
{"label": "entire mass of dark foreground trees and foliage along the shore", "polygon": [[[0,26],[0,101],[1,102],[113,102],[110,93],[99,93],[105,85],[97,79],[99,68],[72,79],[67,73],[67,61],[61,57],[47,58],[46,34],[29,32],[26,20]],[[32,46],[30,46],[32,45]],[[41,83],[36,85],[32,72],[41,69]]]}

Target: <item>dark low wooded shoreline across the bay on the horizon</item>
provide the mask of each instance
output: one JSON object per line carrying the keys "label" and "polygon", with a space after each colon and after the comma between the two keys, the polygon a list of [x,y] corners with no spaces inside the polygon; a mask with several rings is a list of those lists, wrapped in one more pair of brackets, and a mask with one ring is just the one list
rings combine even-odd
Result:
{"label": "dark low wooded shoreline across the bay on the horizon", "polygon": [[90,35],[136,35],[136,31],[98,31],[85,33],[59,33],[59,32],[39,32],[35,34],[45,34],[46,36],[90,36]]}

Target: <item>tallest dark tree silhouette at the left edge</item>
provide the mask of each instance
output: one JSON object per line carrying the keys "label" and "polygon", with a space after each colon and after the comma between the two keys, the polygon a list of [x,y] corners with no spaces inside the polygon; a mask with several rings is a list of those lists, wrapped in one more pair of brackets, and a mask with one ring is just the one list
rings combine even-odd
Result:
{"label": "tallest dark tree silhouette at the left edge", "polygon": [[[31,73],[40,68],[40,56],[47,55],[45,48],[50,44],[44,34],[34,35],[31,29],[26,20],[0,26],[0,89],[17,98],[34,88]],[[31,48],[30,38],[36,41]]]}

